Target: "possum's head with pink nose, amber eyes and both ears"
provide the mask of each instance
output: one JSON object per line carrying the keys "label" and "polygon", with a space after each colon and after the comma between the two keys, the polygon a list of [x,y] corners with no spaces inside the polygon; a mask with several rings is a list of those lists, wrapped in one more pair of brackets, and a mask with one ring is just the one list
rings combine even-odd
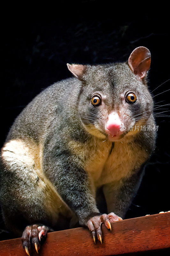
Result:
{"label": "possum's head with pink nose, amber eyes and both ears", "polygon": [[89,133],[116,141],[141,130],[153,109],[146,85],[150,63],[150,51],[138,47],[130,54],[128,63],[67,64],[82,82],[78,111]]}

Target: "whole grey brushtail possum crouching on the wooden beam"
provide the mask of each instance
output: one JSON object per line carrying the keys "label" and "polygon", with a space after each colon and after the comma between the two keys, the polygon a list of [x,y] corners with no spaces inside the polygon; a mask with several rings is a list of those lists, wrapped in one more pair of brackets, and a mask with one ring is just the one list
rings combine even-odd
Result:
{"label": "whole grey brushtail possum crouching on the wooden beam", "polygon": [[16,118],[1,149],[0,201],[28,255],[66,221],[102,242],[101,223],[111,229],[124,218],[155,147],[150,63],[142,46],[124,63],[67,64],[74,76],[49,86]]}

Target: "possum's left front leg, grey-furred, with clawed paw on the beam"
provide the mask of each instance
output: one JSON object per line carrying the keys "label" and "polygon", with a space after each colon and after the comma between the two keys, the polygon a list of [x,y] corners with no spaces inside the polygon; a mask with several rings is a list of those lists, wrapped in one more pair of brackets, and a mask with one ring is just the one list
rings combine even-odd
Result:
{"label": "possum's left front leg, grey-furred, with clawed paw on the beam", "polygon": [[[109,216],[100,214],[97,209],[88,173],[77,158],[70,156],[66,150],[58,152],[55,147],[53,150],[49,147],[44,150],[43,170],[63,201],[76,213],[79,224],[89,228],[94,242],[97,235],[102,243],[101,223],[111,228]],[[116,215],[112,218],[119,220]]]}

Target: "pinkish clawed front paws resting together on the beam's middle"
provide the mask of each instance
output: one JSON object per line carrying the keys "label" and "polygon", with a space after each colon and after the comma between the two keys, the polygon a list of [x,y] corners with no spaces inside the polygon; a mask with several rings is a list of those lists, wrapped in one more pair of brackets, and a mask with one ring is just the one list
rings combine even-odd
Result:
{"label": "pinkish clawed front paws resting together on the beam's middle", "polygon": [[114,222],[114,221],[118,221],[118,220],[122,220],[122,218],[118,217],[113,212],[111,212],[109,214],[102,214],[102,215],[98,215],[98,216],[94,216],[94,217],[90,218],[87,221],[87,227],[91,231],[94,243],[96,243],[96,235],[97,235],[98,240],[102,244],[102,232],[101,232],[101,224],[102,223],[104,223],[108,229],[110,228],[110,230],[112,230],[110,222]]}

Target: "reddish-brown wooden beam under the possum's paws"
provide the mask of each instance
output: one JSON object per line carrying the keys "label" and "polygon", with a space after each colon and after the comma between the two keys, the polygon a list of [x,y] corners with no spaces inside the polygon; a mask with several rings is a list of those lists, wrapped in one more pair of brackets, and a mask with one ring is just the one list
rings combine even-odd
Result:
{"label": "reddish-brown wooden beam under the possum's paws", "polygon": [[[102,225],[103,243],[93,243],[86,228],[49,233],[39,256],[104,256],[170,248],[170,212],[112,223],[112,231]],[[26,255],[21,238],[0,242],[1,256]],[[37,255],[35,250],[33,255]]]}

